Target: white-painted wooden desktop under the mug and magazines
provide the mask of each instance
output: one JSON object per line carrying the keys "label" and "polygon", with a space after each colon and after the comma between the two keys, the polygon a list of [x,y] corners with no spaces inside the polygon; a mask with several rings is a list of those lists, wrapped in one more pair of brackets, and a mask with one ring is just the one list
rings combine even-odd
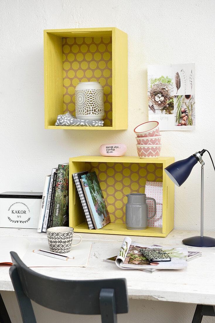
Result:
{"label": "white-painted wooden desktop under the mug and magazines", "polygon": [[[182,239],[199,232],[173,230],[166,238],[132,237],[132,241],[146,244],[181,245]],[[45,233],[33,229],[0,228],[2,236],[19,236],[33,241],[47,239]],[[81,234],[83,240],[92,242],[87,267],[34,268],[38,273],[66,279],[101,279],[124,277],[127,280],[129,298],[161,300],[181,303],[215,305],[215,248],[188,247],[202,252],[191,260],[184,270],[160,270],[146,273],[139,270],[123,270],[114,264],[103,262],[104,258],[117,255],[123,236],[108,234]],[[215,237],[215,232],[205,235]],[[1,248],[4,246],[1,246]],[[0,290],[13,291],[9,266],[0,266]]]}

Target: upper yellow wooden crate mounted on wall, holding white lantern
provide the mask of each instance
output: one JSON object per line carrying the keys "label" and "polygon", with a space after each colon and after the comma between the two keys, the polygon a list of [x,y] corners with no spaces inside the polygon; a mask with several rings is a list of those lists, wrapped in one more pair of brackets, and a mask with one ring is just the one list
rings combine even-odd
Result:
{"label": "upper yellow wooden crate mounted on wall, holding white lantern", "polygon": [[[59,114],[74,113],[74,89],[86,81],[103,86],[104,126],[55,126]],[[127,34],[115,27],[44,30],[44,101],[46,129],[127,129]]]}

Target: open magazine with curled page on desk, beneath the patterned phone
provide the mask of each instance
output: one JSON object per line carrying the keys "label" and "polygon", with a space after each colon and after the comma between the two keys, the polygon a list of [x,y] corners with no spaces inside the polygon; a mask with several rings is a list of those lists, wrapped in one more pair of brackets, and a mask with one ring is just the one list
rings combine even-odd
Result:
{"label": "open magazine with curled page on desk, beneath the patterned phone", "polygon": [[[150,263],[140,249],[160,248],[167,252],[171,257],[169,262]],[[189,252],[190,259],[201,256],[200,252]],[[187,267],[188,250],[187,246],[172,246],[172,245],[143,245],[136,242],[132,243],[131,238],[125,237],[117,256],[104,259],[106,262],[115,262],[116,265],[122,269],[139,269],[147,272],[154,272],[159,269],[183,269]]]}

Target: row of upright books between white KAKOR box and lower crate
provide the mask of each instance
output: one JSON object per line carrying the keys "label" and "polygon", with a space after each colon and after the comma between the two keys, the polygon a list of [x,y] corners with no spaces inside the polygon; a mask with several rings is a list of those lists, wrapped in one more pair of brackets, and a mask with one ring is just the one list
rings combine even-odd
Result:
{"label": "row of upright books between white KAKOR box and lower crate", "polygon": [[38,232],[69,225],[69,164],[59,164],[45,177]]}

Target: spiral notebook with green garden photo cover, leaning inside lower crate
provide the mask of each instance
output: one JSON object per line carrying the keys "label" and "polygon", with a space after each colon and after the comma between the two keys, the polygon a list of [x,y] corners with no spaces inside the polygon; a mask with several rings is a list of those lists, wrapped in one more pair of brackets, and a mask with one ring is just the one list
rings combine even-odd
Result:
{"label": "spiral notebook with green garden photo cover, leaning inside lower crate", "polygon": [[103,193],[95,172],[82,175],[82,187],[95,229],[111,222]]}

